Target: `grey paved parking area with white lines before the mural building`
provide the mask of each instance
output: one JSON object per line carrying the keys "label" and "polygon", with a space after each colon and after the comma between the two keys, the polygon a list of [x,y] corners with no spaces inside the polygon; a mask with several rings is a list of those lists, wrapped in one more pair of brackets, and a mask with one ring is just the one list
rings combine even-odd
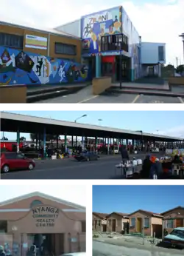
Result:
{"label": "grey paved parking area with white lines before the mural building", "polygon": [[89,86],[77,93],[35,104],[40,107],[184,107],[184,98],[118,93],[93,95]]}

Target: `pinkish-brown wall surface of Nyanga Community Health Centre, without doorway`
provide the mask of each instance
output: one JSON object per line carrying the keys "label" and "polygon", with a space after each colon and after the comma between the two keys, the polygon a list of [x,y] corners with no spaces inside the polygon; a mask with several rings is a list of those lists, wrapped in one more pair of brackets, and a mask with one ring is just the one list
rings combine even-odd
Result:
{"label": "pinkish-brown wall surface of Nyanga Community Health Centre, without doorway", "polygon": [[[42,204],[30,208],[30,204],[35,200],[41,201]],[[47,207],[49,212],[44,210],[40,213],[40,207]],[[18,212],[18,209],[21,212]],[[29,209],[29,212],[26,209]],[[57,234],[54,243],[59,252],[59,234],[63,234],[64,252],[74,252],[79,247],[81,251],[86,250],[88,237],[87,232],[82,231],[82,221],[88,220],[88,212],[63,212],[65,209],[74,210],[74,207],[37,196],[0,206],[0,220],[7,220],[7,234],[0,235],[1,243],[6,238],[12,246],[13,243],[18,245],[21,256],[26,256],[27,249],[21,246],[30,242],[29,234]],[[38,216],[44,214],[51,215],[50,219]],[[71,238],[75,238],[77,243],[72,243]]]}

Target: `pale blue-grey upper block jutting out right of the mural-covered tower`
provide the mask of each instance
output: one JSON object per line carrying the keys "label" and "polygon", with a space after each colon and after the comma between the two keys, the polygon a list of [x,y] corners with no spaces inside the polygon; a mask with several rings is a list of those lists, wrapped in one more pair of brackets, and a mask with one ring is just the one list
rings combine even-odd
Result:
{"label": "pale blue-grey upper block jutting out right of the mural-covered tower", "polygon": [[[163,46],[164,60],[158,58],[158,47]],[[141,43],[141,63],[142,64],[166,64],[166,44],[163,43]]]}

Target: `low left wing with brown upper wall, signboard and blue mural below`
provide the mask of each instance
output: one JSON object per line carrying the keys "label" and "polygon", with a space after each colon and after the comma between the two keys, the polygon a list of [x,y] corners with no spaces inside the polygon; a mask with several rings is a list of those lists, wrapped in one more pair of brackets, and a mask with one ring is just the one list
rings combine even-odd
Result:
{"label": "low left wing with brown upper wall, signboard and blue mural below", "polygon": [[77,36],[0,22],[0,85],[86,81],[81,49]]}

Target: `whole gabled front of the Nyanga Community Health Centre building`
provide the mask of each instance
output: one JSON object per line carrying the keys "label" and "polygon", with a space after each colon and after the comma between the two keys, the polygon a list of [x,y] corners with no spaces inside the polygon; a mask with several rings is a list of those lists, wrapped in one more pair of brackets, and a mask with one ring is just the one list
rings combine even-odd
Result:
{"label": "whole gabled front of the Nyanga Community Health Centre building", "polygon": [[0,244],[11,255],[26,256],[35,243],[55,256],[86,252],[88,209],[40,192],[0,203]]}

